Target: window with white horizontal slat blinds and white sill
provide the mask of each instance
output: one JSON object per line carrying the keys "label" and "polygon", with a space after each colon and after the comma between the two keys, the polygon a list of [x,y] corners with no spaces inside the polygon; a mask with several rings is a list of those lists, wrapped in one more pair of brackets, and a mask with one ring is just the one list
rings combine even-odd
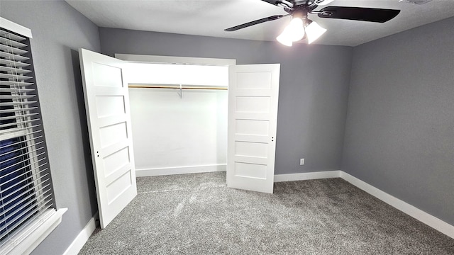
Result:
{"label": "window with white horizontal slat blinds and white sill", "polygon": [[0,19],[0,254],[27,254],[57,211],[30,39]]}

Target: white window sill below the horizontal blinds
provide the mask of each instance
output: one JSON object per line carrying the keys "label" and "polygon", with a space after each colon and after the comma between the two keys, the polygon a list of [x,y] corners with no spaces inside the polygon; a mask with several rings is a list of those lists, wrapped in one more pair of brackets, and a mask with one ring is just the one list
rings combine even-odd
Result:
{"label": "white window sill below the horizontal blinds", "polygon": [[49,209],[6,242],[1,247],[0,254],[31,254],[45,237],[48,237],[50,232],[62,222],[62,215],[67,210],[67,208]]}

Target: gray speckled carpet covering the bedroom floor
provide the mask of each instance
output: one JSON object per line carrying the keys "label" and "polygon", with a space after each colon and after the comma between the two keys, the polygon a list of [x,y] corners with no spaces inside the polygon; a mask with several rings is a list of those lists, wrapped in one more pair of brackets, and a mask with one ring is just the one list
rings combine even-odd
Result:
{"label": "gray speckled carpet covering the bedroom floor", "polygon": [[454,254],[454,239],[342,179],[226,187],[225,172],[138,178],[79,254]]}

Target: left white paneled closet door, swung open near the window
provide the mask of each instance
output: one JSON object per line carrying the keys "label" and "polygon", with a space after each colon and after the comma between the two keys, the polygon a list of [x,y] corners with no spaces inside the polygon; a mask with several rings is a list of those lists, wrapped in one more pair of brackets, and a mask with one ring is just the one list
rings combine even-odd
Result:
{"label": "left white paneled closet door, swung open near the window", "polygon": [[123,61],[79,50],[101,228],[137,195]]}

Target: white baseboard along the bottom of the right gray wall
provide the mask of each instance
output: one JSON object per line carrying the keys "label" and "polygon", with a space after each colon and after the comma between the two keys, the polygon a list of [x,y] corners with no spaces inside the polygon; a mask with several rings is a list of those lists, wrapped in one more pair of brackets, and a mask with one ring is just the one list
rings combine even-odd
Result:
{"label": "white baseboard along the bottom of the right gray wall", "polygon": [[439,232],[442,232],[448,237],[454,239],[453,225],[450,225],[444,222],[443,220],[440,220],[437,217],[434,217],[428,214],[427,212],[424,212],[423,210],[420,210],[414,207],[413,205],[410,205],[409,203],[400,200],[399,198],[395,198],[394,196],[391,196],[388,193],[385,193],[384,191],[375,188],[369,183],[365,183],[364,181],[361,181],[355,176],[345,173],[344,171],[341,171],[341,178],[353,184],[354,186],[357,186],[363,191],[369,193],[370,195],[375,196],[375,198],[382,200],[384,203],[387,203],[388,205],[391,205],[392,207],[401,210],[407,215],[414,217],[416,220],[419,220],[420,222],[423,222],[424,224],[433,227],[434,229],[437,229]]}

